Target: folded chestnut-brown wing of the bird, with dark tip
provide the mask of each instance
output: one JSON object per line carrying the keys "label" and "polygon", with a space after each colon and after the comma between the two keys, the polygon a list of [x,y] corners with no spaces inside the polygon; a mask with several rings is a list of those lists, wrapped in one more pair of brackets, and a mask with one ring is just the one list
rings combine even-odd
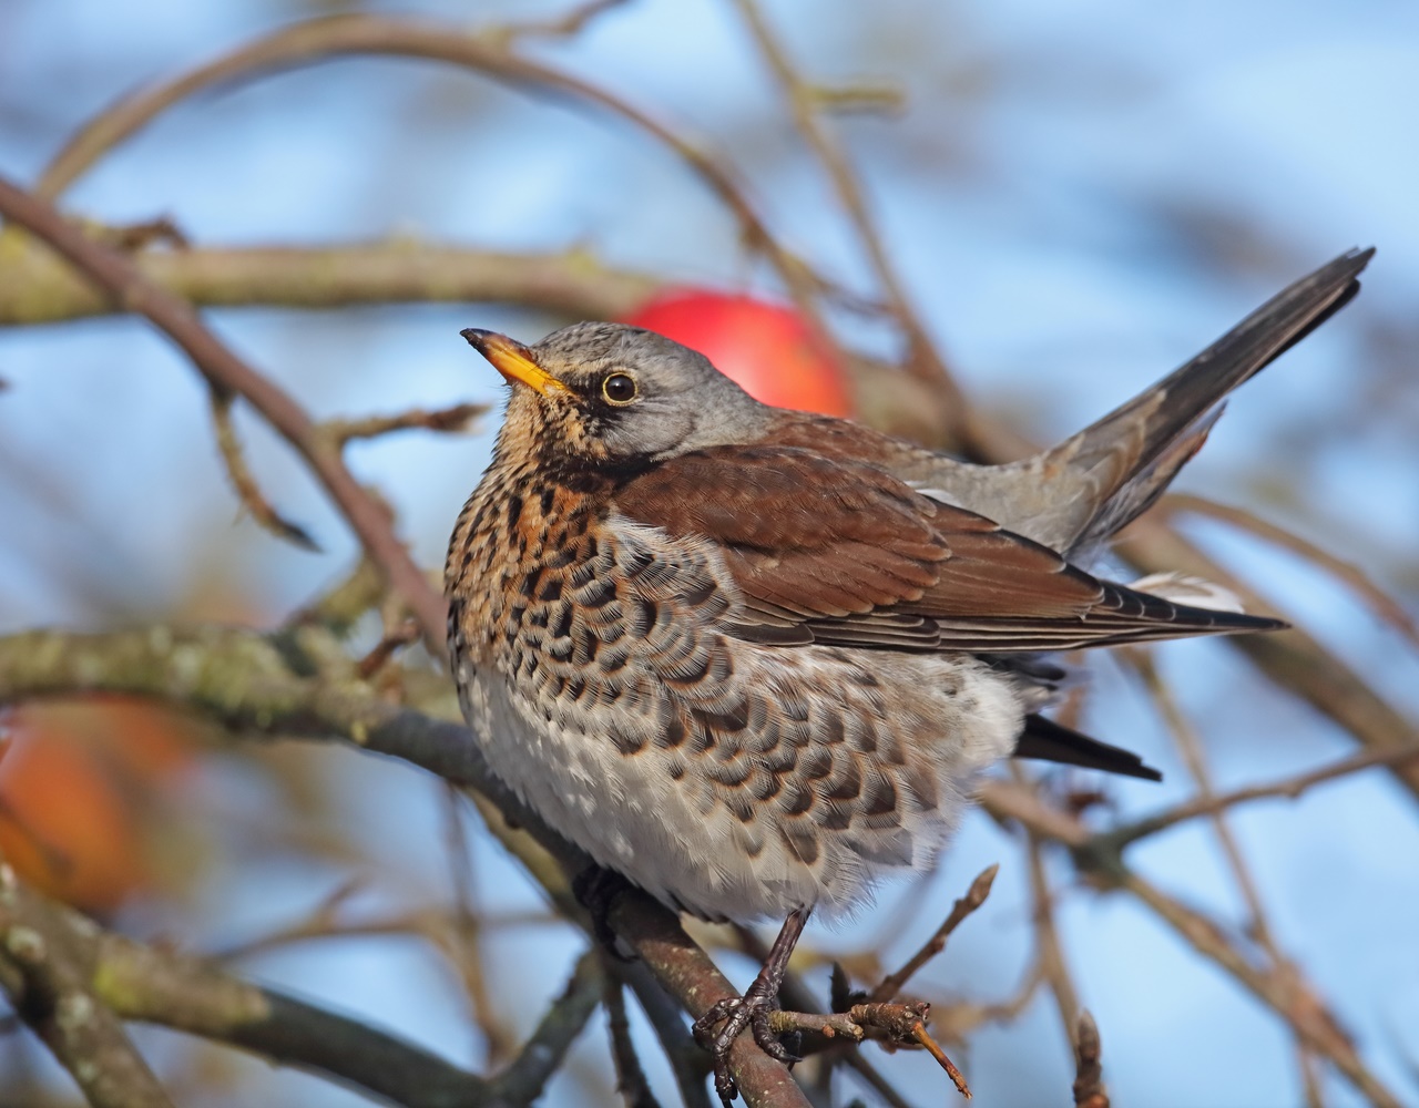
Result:
{"label": "folded chestnut-brown wing of the bird, with dark tip", "polygon": [[627,481],[614,508],[712,541],[745,597],[735,634],[778,644],[1073,650],[1264,630],[1100,582],[866,462],[802,447],[712,447]]}

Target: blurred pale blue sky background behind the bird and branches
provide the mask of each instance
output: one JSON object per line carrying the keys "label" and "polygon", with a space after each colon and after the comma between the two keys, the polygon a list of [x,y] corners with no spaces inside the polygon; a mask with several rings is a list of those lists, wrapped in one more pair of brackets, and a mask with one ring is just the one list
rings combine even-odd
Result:
{"label": "blurred pale blue sky background behind the bird and branches", "polygon": [[[30,184],[119,95],[287,23],[348,10],[473,28],[555,18],[566,6],[6,0],[0,172]],[[1410,616],[1419,610],[1419,9],[1398,0],[1171,9],[766,0],[762,10],[815,84],[900,98],[827,126],[962,389],[1036,441],[1056,441],[1132,396],[1313,267],[1378,245],[1361,298],[1233,399],[1179,484],[1318,543]],[[780,243],[843,287],[880,294],[732,4],[639,0],[575,35],[529,38],[518,50],[718,152]],[[578,251],[660,282],[783,294],[746,251],[735,217],[664,145],[572,98],[528,95],[426,61],[346,58],[204,91],[109,150],[62,204],[109,227],[166,217],[197,248],[379,240]],[[458,329],[531,340],[568,322],[532,298],[314,312],[270,305],[207,318],[321,417],[498,403],[495,376]],[[844,346],[901,359],[881,321],[849,309],[827,319]],[[126,316],[9,322],[0,329],[0,633],[153,621],[274,627],[350,570],[358,552],[348,529],[247,413],[238,430],[257,478],[321,552],[281,543],[238,512],[206,389],[149,325]],[[350,465],[397,511],[421,565],[441,565],[495,424],[494,414],[468,436],[407,433],[352,447]],[[1354,590],[1226,525],[1186,519],[1183,529],[1415,718],[1413,646]],[[373,643],[377,626],[360,634]],[[1169,644],[1154,658],[1200,733],[1219,789],[1355,749],[1226,646]],[[1088,729],[1138,749],[1168,776],[1162,786],[1105,783],[1117,819],[1189,796],[1189,776],[1137,677],[1107,658],[1095,658],[1093,672]],[[482,1068],[521,1041],[583,949],[580,932],[555,921],[467,816],[458,817],[470,834],[461,870],[441,786],[407,766],[312,745],[224,743],[199,724],[132,705],[26,709],[7,726],[16,742],[0,765],[0,848],[18,857],[41,830],[41,838],[74,834],[64,840],[65,864],[50,867],[58,892],[128,934],[234,953],[243,973],[460,1064]],[[48,746],[68,760],[26,769],[37,755],[21,759],[21,743],[33,733],[62,736]],[[1413,794],[1372,769],[1296,802],[1242,807],[1232,826],[1277,945],[1304,966],[1378,1078],[1419,1101]],[[99,854],[84,853],[85,838]],[[454,973],[437,943],[375,926],[446,908],[457,887],[451,857],[481,921],[475,982]],[[1186,902],[1246,918],[1206,824],[1141,843],[1130,860]],[[1029,968],[1029,875],[1012,836],[982,814],[937,874],[884,888],[858,919],[810,928],[809,939],[819,951],[870,949],[893,963],[992,861],[1003,864],[990,901],[915,989],[938,1003],[1006,999]],[[1077,887],[1066,858],[1049,861],[1064,949],[1098,1021],[1117,1104],[1305,1101],[1284,1023],[1137,901],[1094,895]],[[43,857],[33,864],[45,868]],[[88,884],[85,865],[95,874]],[[360,934],[265,942],[322,911]],[[725,965],[739,983],[752,969],[734,956]],[[820,993],[824,975],[809,970]],[[480,993],[497,999],[491,1021],[470,1016]],[[637,1027],[639,1019],[633,1013]],[[619,1102],[600,1020],[548,1104]],[[182,1104],[363,1102],[172,1033],[143,1029],[139,1040]],[[643,1047],[653,1084],[673,1102],[654,1043]],[[1067,1102],[1073,1060],[1043,992],[954,1053],[981,1104]],[[874,1061],[912,1104],[954,1095],[924,1057],[877,1053]],[[1317,1073],[1320,1102],[1364,1102],[1332,1070]],[[873,1102],[851,1077],[837,1080],[841,1102]],[[75,1095],[33,1040],[13,1029],[0,1038],[0,1102]]]}

